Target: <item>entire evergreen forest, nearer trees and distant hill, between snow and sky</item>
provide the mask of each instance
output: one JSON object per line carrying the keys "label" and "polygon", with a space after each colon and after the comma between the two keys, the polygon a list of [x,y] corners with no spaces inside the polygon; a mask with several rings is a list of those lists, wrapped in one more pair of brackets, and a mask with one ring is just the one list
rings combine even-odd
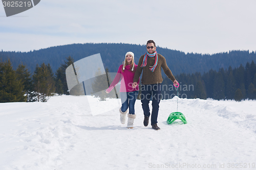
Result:
{"label": "entire evergreen forest, nearer trees and distant hill, between snow and sky", "polygon": [[[33,52],[0,52],[0,102],[47,102],[53,95],[69,95],[66,68],[84,57],[101,54],[106,72],[115,72],[132,51],[135,62],[145,45],[86,43]],[[231,51],[214,55],[185,54],[157,47],[179,81],[179,98],[216,100],[256,99],[255,53]],[[178,63],[178,64],[177,64]],[[177,95],[177,88],[163,74],[162,99]]]}

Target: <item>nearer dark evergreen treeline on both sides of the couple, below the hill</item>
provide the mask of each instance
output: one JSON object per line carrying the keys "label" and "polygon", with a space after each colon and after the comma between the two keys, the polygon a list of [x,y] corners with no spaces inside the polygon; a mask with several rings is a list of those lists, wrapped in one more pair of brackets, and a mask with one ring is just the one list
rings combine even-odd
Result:
{"label": "nearer dark evergreen treeline on both sides of the couple, below the hill", "polygon": [[[0,62],[0,102],[47,102],[53,95],[69,94],[66,68],[72,63],[74,59],[67,57],[55,73],[49,63],[37,64],[31,74],[23,64],[19,64],[15,70],[9,59]],[[237,68],[229,66],[219,71],[210,69],[203,75],[196,72],[175,77],[180,83],[180,98],[236,101],[256,99],[256,65],[253,61],[247,62],[245,67],[241,64]],[[167,77],[162,83],[162,95],[163,99],[177,95],[177,88]]]}

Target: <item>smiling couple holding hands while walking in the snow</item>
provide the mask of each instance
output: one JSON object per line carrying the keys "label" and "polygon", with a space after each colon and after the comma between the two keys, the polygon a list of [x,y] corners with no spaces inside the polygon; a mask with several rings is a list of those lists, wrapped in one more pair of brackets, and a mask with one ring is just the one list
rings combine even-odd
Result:
{"label": "smiling couple holding hands while walking in the snow", "polygon": [[[160,130],[157,126],[157,117],[160,103],[161,83],[163,81],[161,75],[161,68],[163,68],[166,76],[173,81],[174,85],[178,85],[178,81],[168,68],[165,58],[156,51],[156,44],[153,40],[148,40],[146,43],[147,52],[139,59],[138,65],[134,63],[134,54],[127,52],[125,54],[124,63],[119,66],[118,74],[111,83],[110,87],[106,89],[109,93],[121,79],[120,95],[122,106],[120,111],[120,122],[125,124],[125,117],[127,114],[127,128],[133,128],[134,119],[136,118],[134,105],[139,91],[139,77],[141,78],[141,104],[144,112],[144,126],[148,126],[151,115],[151,126],[155,130]],[[123,80],[123,81],[122,81]],[[152,113],[150,113],[149,103],[152,100]]]}

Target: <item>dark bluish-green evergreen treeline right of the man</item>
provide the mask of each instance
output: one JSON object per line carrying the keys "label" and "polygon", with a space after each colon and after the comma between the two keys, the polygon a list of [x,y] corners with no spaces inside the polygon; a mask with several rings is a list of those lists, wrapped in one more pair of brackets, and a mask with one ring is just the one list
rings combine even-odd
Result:
{"label": "dark bluish-green evergreen treeline right of the man", "polygon": [[[231,66],[228,69],[221,68],[219,71],[210,69],[203,75],[200,72],[180,74],[176,79],[180,82],[178,89],[180,98],[236,101],[256,99],[256,66],[253,61],[247,62],[245,67],[241,64],[234,69]],[[165,87],[162,91],[164,99],[173,98],[177,94],[177,88],[171,85],[172,82],[167,77],[162,84]]]}

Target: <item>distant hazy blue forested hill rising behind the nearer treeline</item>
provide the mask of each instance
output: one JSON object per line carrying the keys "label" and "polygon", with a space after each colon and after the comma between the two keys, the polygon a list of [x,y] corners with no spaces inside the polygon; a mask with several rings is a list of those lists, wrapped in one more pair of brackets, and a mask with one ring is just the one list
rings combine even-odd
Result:
{"label": "distant hazy blue forested hill rising behind the nearer treeline", "polygon": [[[55,72],[60,64],[64,63],[66,57],[71,56],[75,61],[84,57],[100,53],[103,64],[109,68],[110,72],[115,72],[118,66],[124,61],[126,52],[132,51],[135,54],[135,62],[146,52],[145,45],[125,44],[125,43],[84,43],[53,46],[41,50],[30,52],[0,52],[0,60],[10,59],[14,69],[20,63],[25,64],[30,72],[35,70],[36,64],[50,63]],[[209,69],[219,70],[223,67],[239,67],[247,62],[256,60],[255,52],[249,51],[229,51],[226,53],[193,54],[170,50],[157,46],[157,52],[162,54],[167,61],[167,65],[174,75],[191,72],[207,72]]]}

